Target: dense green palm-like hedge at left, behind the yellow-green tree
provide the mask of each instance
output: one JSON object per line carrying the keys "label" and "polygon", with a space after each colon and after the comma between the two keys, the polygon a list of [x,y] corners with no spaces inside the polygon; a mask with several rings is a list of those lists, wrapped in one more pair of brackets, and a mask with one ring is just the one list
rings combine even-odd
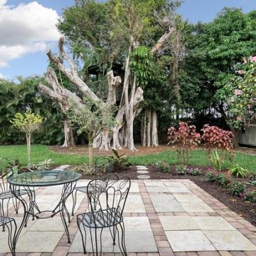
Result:
{"label": "dense green palm-like hedge at left, behind the yellow-green tree", "polygon": [[42,77],[19,77],[18,83],[0,79],[0,143],[20,144],[25,142],[21,134],[12,124],[15,113],[26,113],[31,109],[36,115],[46,118],[31,140],[32,143],[47,145],[60,144],[63,141],[63,115],[59,104],[52,102],[38,92],[38,84]]}

